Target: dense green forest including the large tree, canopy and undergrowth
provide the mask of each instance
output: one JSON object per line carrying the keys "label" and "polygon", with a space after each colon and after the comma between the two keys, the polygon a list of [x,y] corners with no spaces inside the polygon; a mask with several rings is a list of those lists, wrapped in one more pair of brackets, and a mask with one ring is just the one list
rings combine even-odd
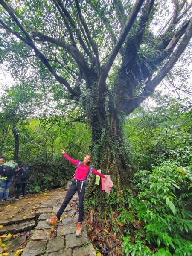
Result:
{"label": "dense green forest including the large tree, canopy and undergrowth", "polygon": [[114,184],[86,192],[98,254],[192,254],[191,13],[187,0],[0,0],[0,155],[26,161],[38,192],[73,177],[61,149],[93,154]]}

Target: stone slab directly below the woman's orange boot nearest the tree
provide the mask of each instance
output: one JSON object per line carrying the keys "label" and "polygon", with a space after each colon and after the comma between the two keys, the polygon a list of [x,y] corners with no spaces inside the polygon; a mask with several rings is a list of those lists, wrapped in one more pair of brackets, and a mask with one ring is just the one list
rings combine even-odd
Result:
{"label": "stone slab directly below the woman's orange boot nearest the tree", "polygon": [[66,247],[67,248],[76,248],[80,247],[82,244],[85,244],[89,241],[87,233],[82,232],[81,236],[76,237],[75,234],[65,236]]}

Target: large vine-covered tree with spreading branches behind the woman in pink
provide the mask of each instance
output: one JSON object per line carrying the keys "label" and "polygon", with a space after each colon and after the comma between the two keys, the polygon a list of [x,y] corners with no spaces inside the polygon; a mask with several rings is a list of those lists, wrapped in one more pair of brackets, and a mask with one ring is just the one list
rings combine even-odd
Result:
{"label": "large vine-covered tree with spreading branches behind the woman in pink", "polygon": [[97,167],[110,170],[119,191],[119,170],[127,169],[124,117],[154,92],[192,36],[192,4],[169,2],[0,0],[1,61],[17,77],[29,67],[42,76],[46,67],[60,97],[79,102]]}

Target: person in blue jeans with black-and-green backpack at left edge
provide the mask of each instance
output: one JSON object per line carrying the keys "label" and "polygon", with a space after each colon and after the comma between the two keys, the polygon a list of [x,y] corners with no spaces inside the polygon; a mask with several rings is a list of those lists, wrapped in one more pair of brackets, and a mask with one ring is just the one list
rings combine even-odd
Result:
{"label": "person in blue jeans with black-and-green backpack at left edge", "polygon": [[1,168],[0,201],[3,198],[3,204],[6,203],[9,196],[9,189],[12,185],[16,171],[19,171],[19,166],[13,160],[9,160],[9,162],[4,163]]}

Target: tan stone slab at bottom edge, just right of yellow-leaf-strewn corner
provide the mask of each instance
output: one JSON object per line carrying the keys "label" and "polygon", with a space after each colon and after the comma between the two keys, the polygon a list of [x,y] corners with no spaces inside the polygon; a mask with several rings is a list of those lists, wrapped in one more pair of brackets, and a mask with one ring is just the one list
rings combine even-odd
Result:
{"label": "tan stone slab at bottom edge, just right of yellow-leaf-strewn corner", "polygon": [[46,244],[46,241],[30,241],[23,250],[22,256],[36,256],[44,254]]}

